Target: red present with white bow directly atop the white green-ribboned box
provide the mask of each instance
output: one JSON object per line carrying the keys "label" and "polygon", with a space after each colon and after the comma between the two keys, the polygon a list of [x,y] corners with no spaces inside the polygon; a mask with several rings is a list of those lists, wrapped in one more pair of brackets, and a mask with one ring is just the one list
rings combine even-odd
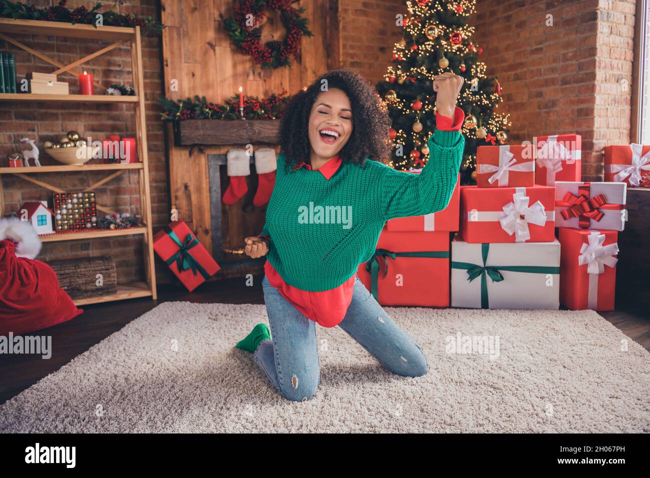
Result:
{"label": "red present with white bow directly atop the white green-ribboned box", "polygon": [[471,244],[554,241],[554,191],[551,186],[461,187],[463,241]]}

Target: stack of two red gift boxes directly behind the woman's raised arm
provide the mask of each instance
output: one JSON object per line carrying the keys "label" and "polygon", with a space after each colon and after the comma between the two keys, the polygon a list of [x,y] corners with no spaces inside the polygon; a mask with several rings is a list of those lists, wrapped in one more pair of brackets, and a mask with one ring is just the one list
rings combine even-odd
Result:
{"label": "stack of two red gift boxes directly behind the woman's raised arm", "polygon": [[380,304],[449,306],[449,237],[458,231],[459,206],[460,176],[442,211],[387,220],[374,254],[357,271]]}

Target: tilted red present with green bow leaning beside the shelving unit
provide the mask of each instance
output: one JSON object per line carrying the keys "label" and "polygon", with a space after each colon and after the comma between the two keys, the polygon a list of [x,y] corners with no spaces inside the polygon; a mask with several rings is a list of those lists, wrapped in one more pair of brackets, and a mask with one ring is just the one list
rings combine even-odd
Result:
{"label": "tilted red present with green bow leaning beside the shelving unit", "polygon": [[153,250],[190,292],[221,269],[183,221],[172,221],[155,233]]}

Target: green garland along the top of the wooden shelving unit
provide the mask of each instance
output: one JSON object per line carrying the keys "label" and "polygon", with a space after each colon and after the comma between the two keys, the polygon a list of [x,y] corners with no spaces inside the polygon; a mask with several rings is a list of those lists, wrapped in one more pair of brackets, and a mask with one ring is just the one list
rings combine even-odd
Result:
{"label": "green garland along the top of the wooden shelving unit", "polygon": [[102,25],[110,27],[140,27],[142,34],[161,34],[165,27],[151,16],[138,16],[133,13],[123,14],[109,10],[100,12],[101,3],[96,3],[88,10],[77,7],[70,10],[68,0],[61,0],[55,7],[38,8],[29,3],[0,0],[0,17],[14,20],[45,20],[65,21],[68,23],[84,23],[97,28],[97,15],[102,16]]}

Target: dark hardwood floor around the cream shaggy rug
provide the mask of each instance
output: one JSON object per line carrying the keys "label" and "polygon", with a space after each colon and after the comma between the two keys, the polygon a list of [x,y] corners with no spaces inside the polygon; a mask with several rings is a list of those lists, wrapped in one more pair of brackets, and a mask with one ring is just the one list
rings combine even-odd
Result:
{"label": "dark hardwood floor around the cream shaggy rug", "polygon": [[[161,285],[156,301],[142,298],[83,306],[84,313],[79,317],[38,331],[39,336],[52,338],[51,358],[43,360],[40,355],[34,354],[0,355],[0,403],[18,395],[162,302],[187,300],[197,303],[263,304],[259,285],[262,277],[255,276],[255,287],[246,287],[243,278],[208,282],[192,293],[177,285]],[[601,312],[601,315],[629,338],[650,350],[650,314],[647,307],[627,306],[621,310]]]}

